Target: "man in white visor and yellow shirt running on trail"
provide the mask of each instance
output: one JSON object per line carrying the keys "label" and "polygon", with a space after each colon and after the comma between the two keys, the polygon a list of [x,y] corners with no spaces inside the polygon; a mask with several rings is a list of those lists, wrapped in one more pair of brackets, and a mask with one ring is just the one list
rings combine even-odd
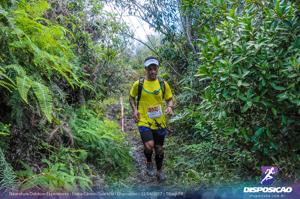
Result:
{"label": "man in white visor and yellow shirt running on trail", "polygon": [[[173,99],[170,86],[157,76],[159,63],[154,56],[145,59],[146,77],[136,81],[130,91],[129,102],[134,111],[134,121],[140,131],[146,156],[146,174],[154,176],[152,153],[155,150],[156,176],[159,182],[166,180],[161,169],[164,138],[167,134],[165,114],[173,116]],[[138,96],[137,105],[135,97]],[[163,99],[167,102],[164,108]],[[165,111],[164,111],[165,110]]]}

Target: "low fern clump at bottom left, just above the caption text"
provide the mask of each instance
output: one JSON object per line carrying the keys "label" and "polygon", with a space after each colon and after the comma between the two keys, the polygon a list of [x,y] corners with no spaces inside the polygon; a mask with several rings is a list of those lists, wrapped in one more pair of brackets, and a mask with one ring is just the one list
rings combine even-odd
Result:
{"label": "low fern clump at bottom left, just above the caption text", "polygon": [[[92,171],[84,162],[87,157],[85,150],[71,150],[70,148],[61,148],[59,153],[53,153],[48,159],[42,159],[42,162],[48,166],[44,168],[43,173],[35,174],[26,163],[20,161],[26,171],[15,172],[26,179],[21,183],[20,191],[38,188],[52,191],[79,191],[83,192],[90,189],[91,180],[85,174],[88,170]],[[41,187],[41,188],[40,188]],[[91,190],[91,189],[90,189]]]}

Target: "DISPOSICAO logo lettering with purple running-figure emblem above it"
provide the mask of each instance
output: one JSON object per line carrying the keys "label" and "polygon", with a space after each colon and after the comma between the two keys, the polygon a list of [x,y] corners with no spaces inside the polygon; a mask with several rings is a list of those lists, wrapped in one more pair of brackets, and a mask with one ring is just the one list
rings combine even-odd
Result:
{"label": "DISPOSICAO logo lettering with purple running-figure emblem above it", "polygon": [[[259,185],[270,185],[274,182],[274,175],[277,175],[277,167],[261,167],[262,179],[258,183]],[[244,192],[291,192],[291,187],[244,187]]]}

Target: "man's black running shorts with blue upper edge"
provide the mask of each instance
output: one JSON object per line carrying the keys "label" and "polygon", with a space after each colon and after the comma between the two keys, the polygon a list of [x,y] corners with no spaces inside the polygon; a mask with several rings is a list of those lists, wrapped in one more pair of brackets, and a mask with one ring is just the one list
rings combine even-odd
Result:
{"label": "man's black running shorts with blue upper edge", "polygon": [[155,145],[164,145],[167,129],[150,129],[147,126],[139,126],[139,131],[143,144],[149,141],[154,141]]}

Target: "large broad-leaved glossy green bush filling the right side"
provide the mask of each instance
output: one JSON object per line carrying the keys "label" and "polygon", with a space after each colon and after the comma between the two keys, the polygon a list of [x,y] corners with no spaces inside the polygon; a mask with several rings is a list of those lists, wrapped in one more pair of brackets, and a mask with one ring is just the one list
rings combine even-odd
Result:
{"label": "large broad-leaved glossy green bush filling the right side", "polygon": [[[196,76],[204,89],[200,104],[187,110],[194,127],[210,124],[227,137],[229,149],[253,152],[262,165],[282,156],[298,161],[299,4],[198,4],[197,23],[205,26],[196,45],[201,50]],[[208,25],[210,20],[215,23]]]}

